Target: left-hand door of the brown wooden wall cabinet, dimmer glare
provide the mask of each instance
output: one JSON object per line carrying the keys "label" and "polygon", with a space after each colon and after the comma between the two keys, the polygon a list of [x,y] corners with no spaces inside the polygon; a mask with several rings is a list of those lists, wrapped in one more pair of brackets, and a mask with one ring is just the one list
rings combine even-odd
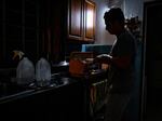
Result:
{"label": "left-hand door of the brown wooden wall cabinet, dimmer glare", "polygon": [[69,0],[68,4],[68,38],[82,40],[83,5],[82,0]]}

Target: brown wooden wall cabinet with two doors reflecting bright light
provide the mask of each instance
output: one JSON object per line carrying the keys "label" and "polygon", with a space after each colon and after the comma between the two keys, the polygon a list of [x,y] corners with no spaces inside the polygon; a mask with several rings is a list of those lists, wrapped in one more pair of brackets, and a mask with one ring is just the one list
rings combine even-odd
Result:
{"label": "brown wooden wall cabinet with two doors reflecting bright light", "polygon": [[90,0],[69,0],[68,39],[83,42],[95,40],[95,2]]}

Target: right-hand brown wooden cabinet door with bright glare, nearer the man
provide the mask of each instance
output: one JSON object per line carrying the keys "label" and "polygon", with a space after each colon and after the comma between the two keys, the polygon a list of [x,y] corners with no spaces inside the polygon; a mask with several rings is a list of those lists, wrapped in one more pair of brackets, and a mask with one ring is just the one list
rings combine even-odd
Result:
{"label": "right-hand brown wooden cabinet door with bright glare, nearer the man", "polygon": [[85,0],[84,3],[84,40],[94,41],[95,39],[95,3]]}

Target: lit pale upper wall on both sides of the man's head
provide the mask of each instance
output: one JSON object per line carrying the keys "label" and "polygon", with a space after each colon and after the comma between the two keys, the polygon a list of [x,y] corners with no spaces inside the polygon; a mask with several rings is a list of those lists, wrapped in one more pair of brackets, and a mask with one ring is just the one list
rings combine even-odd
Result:
{"label": "lit pale upper wall on both sides of the man's head", "polygon": [[[116,36],[105,29],[104,13],[109,10],[108,0],[93,0],[96,3],[96,44],[112,44]],[[143,19],[143,2],[152,0],[123,0],[123,11],[126,18],[138,16]]]}

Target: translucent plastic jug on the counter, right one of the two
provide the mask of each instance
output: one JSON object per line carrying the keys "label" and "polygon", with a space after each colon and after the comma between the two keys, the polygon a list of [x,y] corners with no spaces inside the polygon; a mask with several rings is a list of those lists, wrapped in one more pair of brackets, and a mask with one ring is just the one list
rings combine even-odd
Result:
{"label": "translucent plastic jug on the counter, right one of the two", "polygon": [[51,65],[50,63],[41,57],[36,64],[36,80],[38,85],[45,86],[51,81]]}

